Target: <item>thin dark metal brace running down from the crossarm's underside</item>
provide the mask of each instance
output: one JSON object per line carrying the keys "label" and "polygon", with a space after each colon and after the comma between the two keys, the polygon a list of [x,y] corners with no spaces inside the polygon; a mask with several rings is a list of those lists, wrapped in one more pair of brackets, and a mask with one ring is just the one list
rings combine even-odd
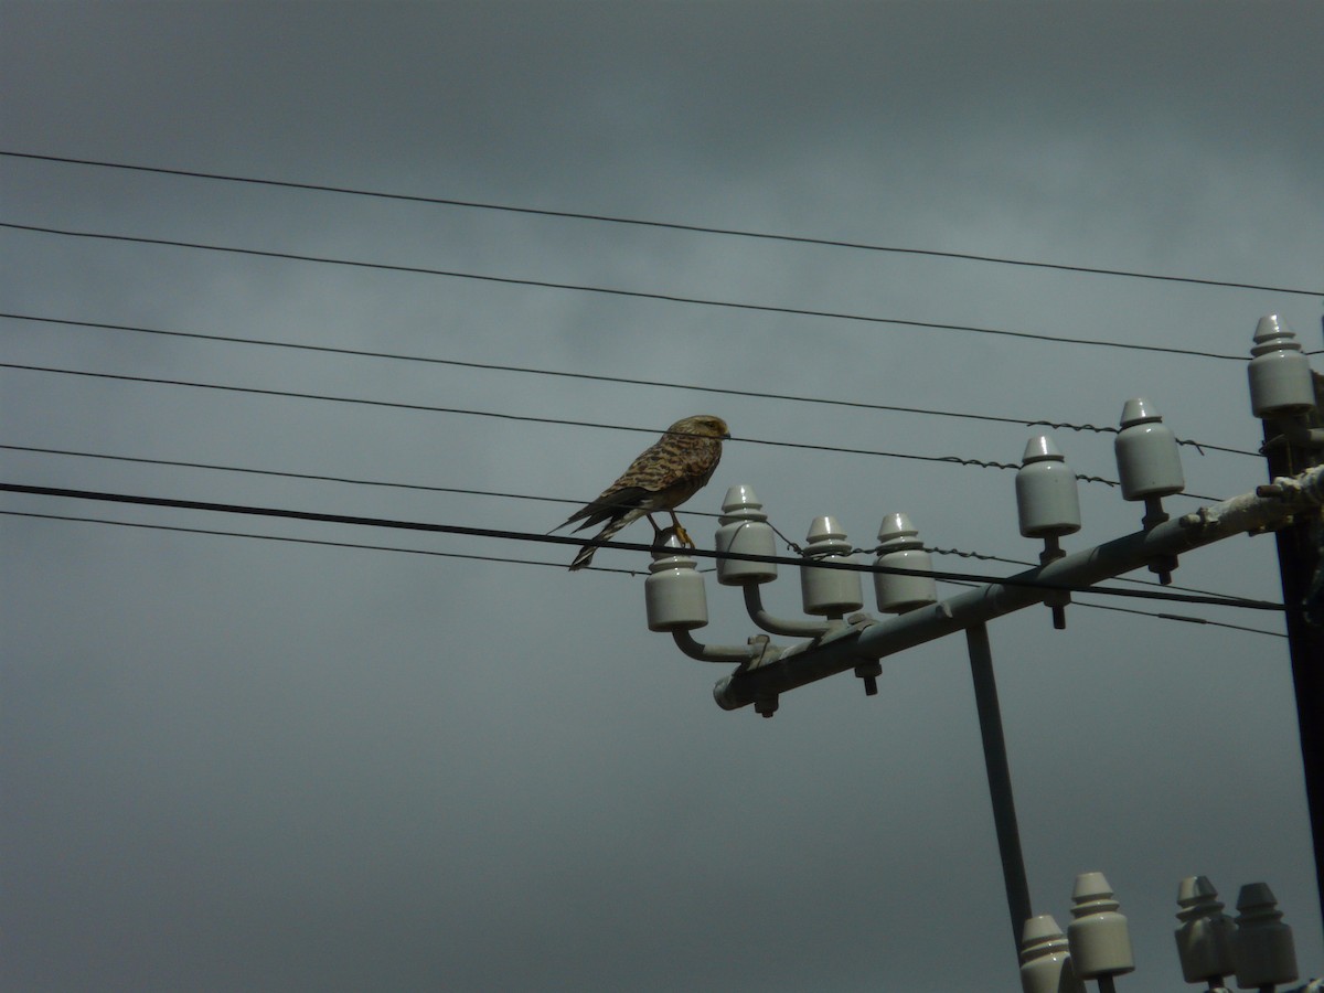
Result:
{"label": "thin dark metal brace running down from the crossarm's underside", "polygon": [[1016,824],[1012,771],[1006,761],[1006,739],[1002,736],[1002,714],[997,706],[988,628],[982,624],[970,625],[965,629],[965,642],[970,651],[974,706],[980,712],[980,735],[984,739],[984,767],[989,776],[993,825],[997,829],[998,854],[1002,857],[1006,906],[1012,915],[1012,940],[1019,960],[1021,931],[1034,912],[1030,910],[1030,886],[1025,879],[1025,858],[1021,855],[1021,829]]}

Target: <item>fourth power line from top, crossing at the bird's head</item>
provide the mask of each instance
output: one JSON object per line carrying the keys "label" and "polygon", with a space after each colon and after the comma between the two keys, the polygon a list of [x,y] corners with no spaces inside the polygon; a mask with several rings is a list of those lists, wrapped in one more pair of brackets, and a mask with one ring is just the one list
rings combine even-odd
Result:
{"label": "fourth power line from top, crossing at the bird's head", "polygon": [[[406,404],[400,400],[369,400],[364,397],[343,397],[332,396],[327,393],[301,393],[289,389],[265,389],[260,387],[234,387],[221,383],[197,383],[195,380],[179,380],[179,379],[160,379],[155,376],[128,376],[118,372],[90,372],[86,369],[64,369],[52,365],[28,365],[23,363],[0,361],[0,369],[19,369],[23,372],[46,372],[60,376],[86,376],[91,379],[105,379],[117,380],[124,383],[151,383],[155,385],[167,387],[188,387],[193,389],[214,389],[226,393],[248,393],[253,396],[275,396],[275,397],[289,397],[295,400],[323,400],[327,402],[336,404],[363,404],[368,406],[380,406],[388,409],[399,410],[420,410],[426,413],[451,413],[451,414],[465,414],[469,417],[494,417],[503,421],[523,421],[528,424],[556,424],[567,425],[572,428],[601,428],[605,430],[625,430],[625,432],[642,432],[646,434],[659,434],[658,428],[634,428],[622,424],[601,424],[597,421],[572,421],[560,417],[536,417],[534,414],[512,414],[500,413],[496,410],[470,410],[458,406],[436,406],[432,404]],[[922,455],[914,451],[882,451],[879,449],[857,449],[846,448],[842,445],[814,445],[810,442],[801,441],[772,441],[767,438],[736,438],[735,441],[743,442],[745,445],[765,445],[773,448],[788,448],[788,449],[801,449],[809,451],[833,451],[837,454],[846,455],[876,455],[879,458],[904,458],[920,462],[941,462],[947,465],[957,466],[973,466],[977,469],[1004,469],[1016,470],[1021,466],[1016,462],[993,462],[989,459],[980,458],[964,458],[961,455]],[[1116,479],[1108,479],[1102,475],[1083,475],[1076,474],[1076,479],[1087,483],[1103,483],[1104,486],[1119,486]],[[1181,496],[1189,496],[1197,500],[1217,500],[1217,496],[1206,496],[1198,493],[1182,493]]]}

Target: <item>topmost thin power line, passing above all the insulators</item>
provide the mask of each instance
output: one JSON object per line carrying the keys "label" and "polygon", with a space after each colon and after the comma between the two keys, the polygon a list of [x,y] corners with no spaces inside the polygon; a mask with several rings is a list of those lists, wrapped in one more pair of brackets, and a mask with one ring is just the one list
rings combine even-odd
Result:
{"label": "topmost thin power line, passing above all the insulators", "polygon": [[800,234],[775,234],[768,232],[740,230],[735,228],[716,228],[711,225],[679,224],[674,221],[655,221],[638,217],[618,217],[612,214],[581,213],[575,211],[551,211],[534,207],[512,207],[508,204],[481,203],[475,200],[455,200],[433,196],[417,196],[410,193],[387,193],[372,189],[359,189],[354,187],[334,187],[318,183],[297,183],[291,180],[256,179],[252,176],[234,176],[220,172],[201,172],[196,169],[171,169],[158,166],[131,166],[118,162],[98,162],[93,159],[73,159],[58,155],[36,155],[30,152],[0,151],[0,155],[12,159],[33,159],[38,162],[57,162],[70,166],[93,166],[99,168],[126,169],[132,172],[148,172],[163,176],[184,176],[188,179],[220,180],[225,183],[244,183],[250,185],[278,187],[283,189],[303,189],[319,193],[339,193],[347,196],[373,197],[377,200],[397,200],[413,204],[433,204],[437,207],[462,207],[477,211],[500,211],[506,213],[528,214],[536,217],[559,217],[577,221],[597,221],[604,224],[632,225],[639,228],[659,228],[666,230],[682,230],[695,234],[718,234],[724,237],[755,238],[763,241],[781,241],[796,245],[817,245],[822,248],[854,249],[861,252],[883,252],[903,256],[924,256],[929,258],[951,258],[965,262],[988,262],[994,265],[1022,266],[1027,269],[1049,269],[1063,273],[1083,273],[1090,275],[1113,275],[1129,279],[1152,279],[1172,283],[1192,283],[1196,286],[1218,286],[1235,290],[1260,290],[1264,293],[1287,293],[1300,297],[1321,297],[1324,290],[1301,290],[1287,286],[1266,286],[1260,283],[1230,282],[1226,279],[1202,279],[1188,275],[1164,275],[1158,273],[1143,273],[1127,269],[1103,269],[1096,266],[1067,265],[1061,262],[1038,262],[1019,258],[1006,258],[1002,256],[984,256],[968,252],[941,252],[936,249],[902,248],[891,245],[875,245],[857,241],[839,241],[831,238],[813,238]]}

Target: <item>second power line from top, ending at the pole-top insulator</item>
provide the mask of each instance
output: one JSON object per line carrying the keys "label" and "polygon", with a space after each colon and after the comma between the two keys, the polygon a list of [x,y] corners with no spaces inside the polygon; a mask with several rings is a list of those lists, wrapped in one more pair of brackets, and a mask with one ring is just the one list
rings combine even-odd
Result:
{"label": "second power line from top, ending at the pole-top insulator", "polygon": [[523,279],[510,275],[489,275],[482,273],[462,273],[451,269],[430,269],[428,266],[393,265],[388,262],[364,262],[348,258],[328,258],[324,256],[308,256],[295,252],[270,252],[266,249],[236,248],[229,245],[211,245],[196,241],[173,241],[169,238],[147,238],[134,234],[106,234],[102,232],[79,232],[61,228],[45,228],[32,224],[15,224],[0,221],[0,228],[11,230],[25,230],[38,234],[54,234],[68,238],[93,238],[99,241],[118,241],[134,245],[160,245],[164,248],[196,249],[200,252],[222,252],[237,256],[250,256],[254,258],[279,258],[293,262],[314,262],[318,265],[352,266],[356,269],[373,269],[389,273],[410,273],[414,275],[442,275],[453,279],[474,279],[478,282],[500,283],[506,286],[534,286],[547,290],[573,290],[576,293],[597,293],[610,297],[629,297],[634,299],[662,301],[666,303],[692,303],[704,307],[724,307],[728,310],[755,311],[760,314],[788,314],[793,316],[826,318],[830,320],[857,320],[870,324],[898,324],[900,327],[919,327],[931,331],[965,331],[980,335],[997,335],[1002,338],[1018,338],[1034,342],[1053,342],[1057,344],[1082,344],[1099,348],[1121,348],[1140,352],[1161,352],[1165,355],[1185,355],[1198,359],[1222,359],[1225,361],[1245,361],[1239,355],[1223,355],[1219,352],[1205,352],[1194,348],[1172,348],[1158,344],[1132,344],[1125,342],[1106,342],[1098,338],[1059,338],[1054,335],[1039,335],[1030,331],[1008,331],[1004,328],[978,327],[974,324],[941,324],[929,320],[906,320],[902,318],[879,318],[867,314],[849,314],[831,310],[809,310],[801,307],[781,307],[769,303],[741,303],[736,301],[716,301],[703,297],[681,297],[667,293],[647,293],[643,290],[621,290],[608,286],[588,286],[584,283],[563,283],[545,279]]}

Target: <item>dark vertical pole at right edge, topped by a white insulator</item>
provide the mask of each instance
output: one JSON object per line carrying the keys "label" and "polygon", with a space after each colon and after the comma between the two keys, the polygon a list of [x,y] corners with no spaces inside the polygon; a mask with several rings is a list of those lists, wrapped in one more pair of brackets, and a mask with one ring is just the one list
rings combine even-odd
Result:
{"label": "dark vertical pole at right edge, topped by a white insulator", "polygon": [[[1270,481],[1320,465],[1324,461],[1324,384],[1311,373],[1296,336],[1271,314],[1255,328],[1251,354],[1255,356],[1250,368],[1251,406],[1264,421],[1263,451]],[[1287,643],[1315,847],[1315,883],[1324,915],[1324,520],[1319,511],[1296,514],[1274,538],[1287,608]]]}

